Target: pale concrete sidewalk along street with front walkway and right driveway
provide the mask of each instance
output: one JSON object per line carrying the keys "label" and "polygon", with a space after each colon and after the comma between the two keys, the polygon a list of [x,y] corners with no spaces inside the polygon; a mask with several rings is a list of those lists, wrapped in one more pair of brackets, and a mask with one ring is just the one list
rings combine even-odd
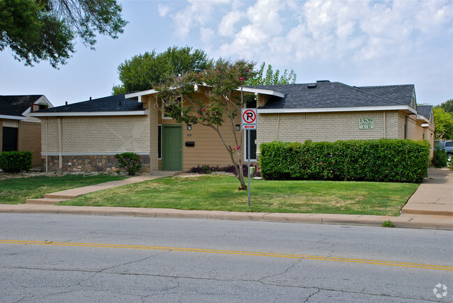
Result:
{"label": "pale concrete sidewalk along street with front walkway and right driveway", "polygon": [[[162,176],[171,176],[174,172],[162,172]],[[284,214],[270,212],[224,212],[206,210],[174,210],[162,208],[112,208],[65,205],[40,205],[24,203],[19,205],[0,204],[0,212],[9,213],[51,213],[102,216],[135,217],[172,217],[194,219],[243,220],[263,222],[288,222],[312,224],[345,224],[381,226],[390,220],[400,228],[432,228],[453,231],[453,174],[450,169],[429,169],[426,178],[415,194],[402,209],[399,217],[370,215],[330,215],[330,214]],[[70,189],[70,194],[86,194],[95,190],[110,188],[142,180],[151,180],[160,176],[138,176],[121,181],[112,181],[100,185],[91,185],[79,189]],[[132,179],[132,180],[131,180]],[[66,193],[54,193],[68,197]],[[47,196],[47,195],[46,195]],[[56,195],[58,196],[58,195]],[[58,198],[61,199],[61,198]],[[31,201],[33,202],[33,201]]]}

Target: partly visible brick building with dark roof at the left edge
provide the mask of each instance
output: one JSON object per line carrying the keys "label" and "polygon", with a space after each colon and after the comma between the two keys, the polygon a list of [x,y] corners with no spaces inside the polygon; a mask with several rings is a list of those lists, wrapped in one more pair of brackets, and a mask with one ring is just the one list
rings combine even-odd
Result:
{"label": "partly visible brick building with dark roof at the left edge", "polygon": [[31,151],[33,166],[40,166],[41,124],[29,114],[48,107],[45,95],[0,95],[0,151]]}

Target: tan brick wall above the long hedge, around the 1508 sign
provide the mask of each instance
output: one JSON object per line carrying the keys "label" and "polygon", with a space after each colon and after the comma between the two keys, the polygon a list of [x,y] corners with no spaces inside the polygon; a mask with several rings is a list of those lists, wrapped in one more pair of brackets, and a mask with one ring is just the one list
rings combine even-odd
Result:
{"label": "tan brick wall above the long hedge, around the 1508 sign", "polygon": [[[374,129],[359,130],[359,118],[374,118]],[[279,117],[278,114],[259,114],[256,143],[401,138],[399,125],[404,126],[404,121],[400,120],[398,112],[385,112],[384,130],[383,111],[280,114]]]}

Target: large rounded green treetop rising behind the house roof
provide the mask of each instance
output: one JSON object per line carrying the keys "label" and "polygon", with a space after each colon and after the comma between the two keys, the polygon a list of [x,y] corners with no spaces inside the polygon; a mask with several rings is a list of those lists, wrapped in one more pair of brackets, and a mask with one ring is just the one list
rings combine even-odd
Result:
{"label": "large rounded green treetop rising behind the house roof", "polygon": [[192,50],[192,47],[188,46],[169,47],[160,54],[154,50],[145,52],[118,65],[122,84],[114,86],[112,91],[114,95],[129,91],[146,91],[165,81],[167,77],[183,75],[190,71],[201,72],[211,64],[212,61],[204,51]]}

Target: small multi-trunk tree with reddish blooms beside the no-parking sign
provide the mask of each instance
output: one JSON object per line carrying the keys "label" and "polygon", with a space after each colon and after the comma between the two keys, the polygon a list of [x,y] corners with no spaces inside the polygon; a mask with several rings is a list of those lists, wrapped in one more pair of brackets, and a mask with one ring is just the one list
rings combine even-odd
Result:
{"label": "small multi-trunk tree with reddish blooms beside the no-parking sign", "polygon": [[[242,87],[254,77],[253,67],[254,63],[243,60],[231,62],[219,59],[204,71],[186,72],[181,77],[173,77],[155,86],[160,92],[159,97],[165,100],[164,108],[161,108],[161,104],[157,106],[167,116],[178,123],[199,123],[217,132],[236,169],[236,176],[240,181],[238,189],[247,189],[247,185],[244,181],[243,157],[240,152],[243,146],[243,131],[236,132],[234,118],[243,108]],[[209,89],[200,89],[199,94],[194,94],[197,85],[206,85]],[[204,100],[201,100],[200,95]],[[220,130],[223,123],[231,125],[235,146],[230,146],[225,141]]]}

